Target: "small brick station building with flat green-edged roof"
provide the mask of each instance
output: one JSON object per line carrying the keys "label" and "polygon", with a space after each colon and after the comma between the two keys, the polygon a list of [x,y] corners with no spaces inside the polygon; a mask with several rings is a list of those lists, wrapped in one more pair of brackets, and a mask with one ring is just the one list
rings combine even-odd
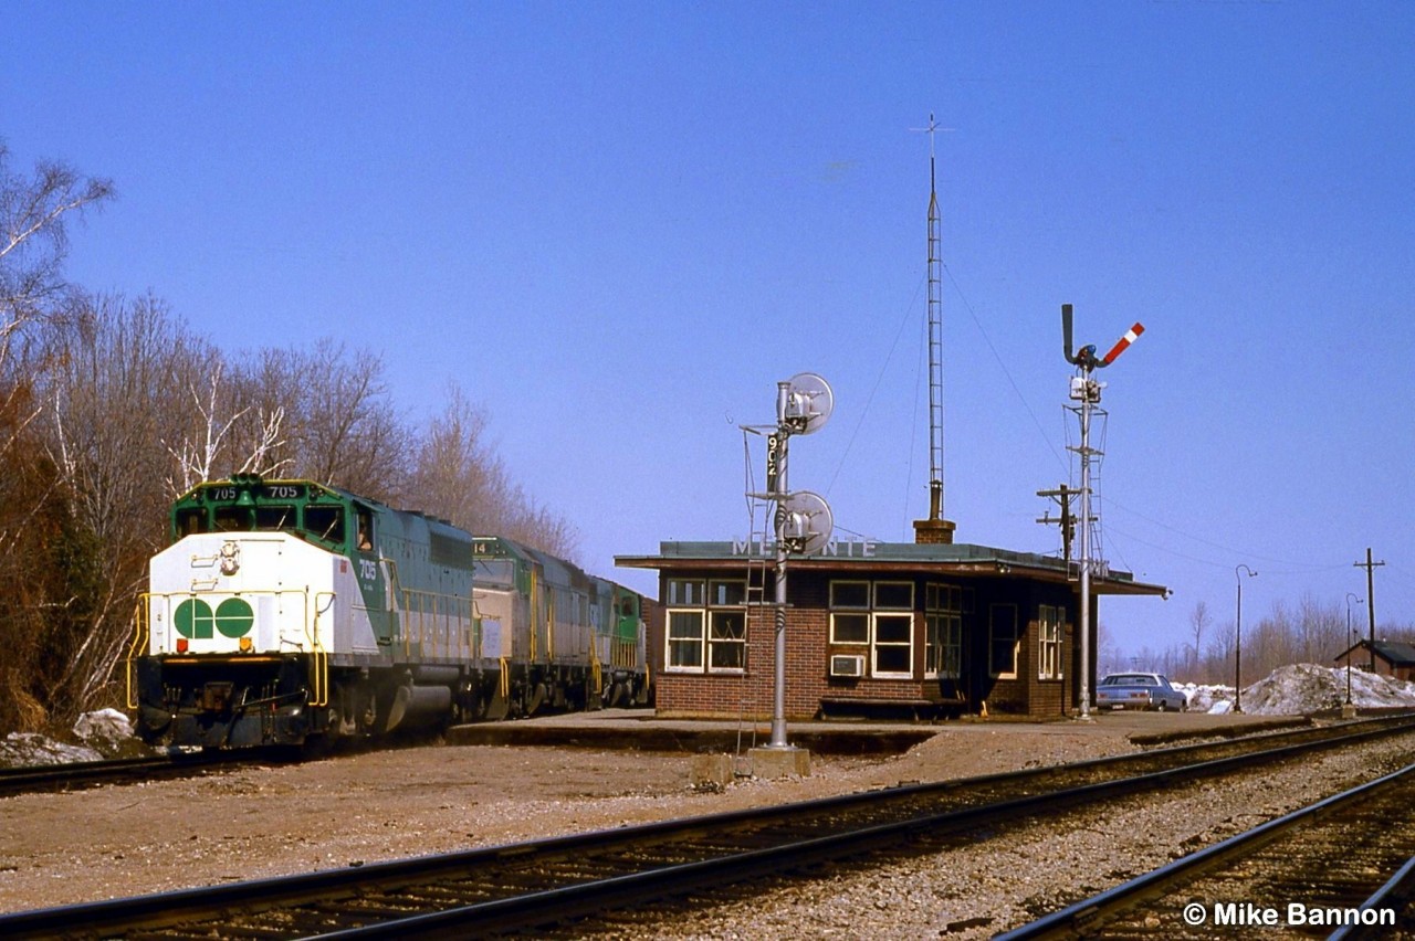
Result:
{"label": "small brick station building with flat green-edged roof", "polygon": [[[741,541],[661,543],[658,555],[616,558],[658,571],[649,630],[659,715],[771,716],[774,560],[770,543]],[[785,571],[791,719],[1056,718],[1078,706],[1074,562],[988,545],[853,540],[791,557]],[[1092,571],[1091,593],[1094,651],[1098,596],[1166,589],[1108,569]]]}

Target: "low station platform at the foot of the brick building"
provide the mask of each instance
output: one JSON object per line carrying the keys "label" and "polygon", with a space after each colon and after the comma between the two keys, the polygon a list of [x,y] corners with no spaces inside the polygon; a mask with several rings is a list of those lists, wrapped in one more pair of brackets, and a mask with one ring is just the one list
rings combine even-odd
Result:
{"label": "low station platform at the foot of the brick building", "polygon": [[[1306,716],[1210,715],[1204,712],[1092,712],[1090,721],[1037,722],[1015,718],[962,718],[934,723],[908,721],[788,722],[787,740],[816,754],[897,754],[934,735],[1068,733],[1125,738],[1136,746],[1232,738],[1310,725]],[[457,725],[449,745],[515,745],[642,752],[740,753],[771,740],[771,723],[753,719],[659,718],[651,709],[600,709],[505,722]]]}

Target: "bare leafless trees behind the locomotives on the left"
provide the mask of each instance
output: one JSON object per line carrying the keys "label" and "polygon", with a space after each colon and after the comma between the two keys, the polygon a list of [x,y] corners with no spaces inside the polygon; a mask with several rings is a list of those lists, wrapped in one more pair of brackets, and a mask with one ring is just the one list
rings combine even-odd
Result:
{"label": "bare leafless trees behind the locomotives on the left", "polygon": [[122,701],[147,560],[202,480],[313,479],[573,558],[456,384],[417,424],[371,350],[229,353],[160,297],[69,283],[68,227],[112,198],[58,161],[11,168],[0,141],[0,735]]}

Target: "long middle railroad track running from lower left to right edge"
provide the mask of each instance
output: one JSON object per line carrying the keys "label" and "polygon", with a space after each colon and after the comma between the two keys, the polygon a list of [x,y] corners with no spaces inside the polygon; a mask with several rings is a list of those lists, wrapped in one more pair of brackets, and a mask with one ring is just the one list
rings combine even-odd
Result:
{"label": "long middle railroad track running from lower left to right edge", "polygon": [[[799,872],[1060,805],[1115,800],[1415,730],[1415,719],[1172,747],[644,827],[0,916],[3,937],[470,937]],[[587,925],[586,925],[587,927]],[[573,930],[573,928],[572,928]]]}

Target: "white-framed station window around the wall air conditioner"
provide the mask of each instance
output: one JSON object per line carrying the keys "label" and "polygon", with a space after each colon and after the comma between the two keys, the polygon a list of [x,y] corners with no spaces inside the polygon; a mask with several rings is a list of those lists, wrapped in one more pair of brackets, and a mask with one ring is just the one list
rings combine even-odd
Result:
{"label": "white-framed station window around the wall air conditioner", "polygon": [[914,584],[831,582],[831,643],[859,646],[870,675],[914,675]]}

